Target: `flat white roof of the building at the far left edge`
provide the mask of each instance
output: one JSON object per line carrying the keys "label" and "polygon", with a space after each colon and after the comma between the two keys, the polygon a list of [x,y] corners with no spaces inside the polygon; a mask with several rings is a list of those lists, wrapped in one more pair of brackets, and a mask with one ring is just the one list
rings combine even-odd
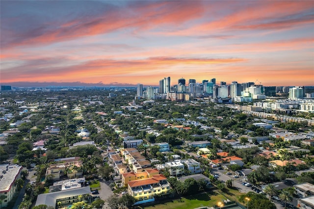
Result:
{"label": "flat white roof of the building at the far left edge", "polygon": [[0,165],[0,191],[8,191],[15,178],[19,175],[22,166],[16,164]]}

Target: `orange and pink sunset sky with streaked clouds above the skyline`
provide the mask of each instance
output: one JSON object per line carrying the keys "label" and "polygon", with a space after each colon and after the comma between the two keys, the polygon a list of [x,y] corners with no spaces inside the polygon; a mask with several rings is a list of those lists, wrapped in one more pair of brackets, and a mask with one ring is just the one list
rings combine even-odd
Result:
{"label": "orange and pink sunset sky with streaked clouds above the skyline", "polygon": [[0,82],[314,85],[314,0],[1,0]]}

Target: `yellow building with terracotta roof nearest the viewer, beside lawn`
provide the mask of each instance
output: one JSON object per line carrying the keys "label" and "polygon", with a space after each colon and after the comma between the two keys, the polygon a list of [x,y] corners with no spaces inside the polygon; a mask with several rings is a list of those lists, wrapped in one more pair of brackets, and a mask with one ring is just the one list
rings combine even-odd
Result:
{"label": "yellow building with terracotta roof nearest the viewer, beside lawn", "polygon": [[168,194],[169,192],[170,184],[163,174],[128,182],[128,193],[137,200],[134,205],[153,202],[156,194]]}

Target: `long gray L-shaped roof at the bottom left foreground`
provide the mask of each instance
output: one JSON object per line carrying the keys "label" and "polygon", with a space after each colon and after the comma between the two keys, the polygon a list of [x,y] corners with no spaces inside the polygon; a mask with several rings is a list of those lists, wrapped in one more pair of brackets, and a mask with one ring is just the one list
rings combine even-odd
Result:
{"label": "long gray L-shaped roof at the bottom left foreground", "polygon": [[80,188],[75,188],[75,189],[68,189],[68,190],[63,190],[63,191],[40,194],[37,197],[35,206],[47,205],[47,206],[52,206],[53,208],[55,208],[57,199],[74,197],[74,196],[89,194],[89,193],[90,193],[90,187],[85,186],[85,187],[80,187]]}

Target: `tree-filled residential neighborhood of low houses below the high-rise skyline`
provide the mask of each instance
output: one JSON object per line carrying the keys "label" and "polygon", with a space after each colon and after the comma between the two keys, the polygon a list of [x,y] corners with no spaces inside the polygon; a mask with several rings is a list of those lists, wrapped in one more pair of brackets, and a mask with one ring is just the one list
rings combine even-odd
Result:
{"label": "tree-filled residential neighborhood of low houses below the high-rise skyline", "polygon": [[135,90],[1,92],[1,208],[314,208],[313,113],[265,119]]}

